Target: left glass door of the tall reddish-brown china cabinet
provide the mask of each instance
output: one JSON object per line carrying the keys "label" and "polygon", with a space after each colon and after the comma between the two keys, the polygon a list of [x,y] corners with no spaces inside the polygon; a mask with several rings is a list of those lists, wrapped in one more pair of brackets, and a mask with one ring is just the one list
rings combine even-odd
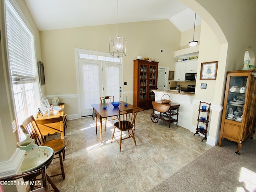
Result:
{"label": "left glass door of the tall reddish-brown china cabinet", "polygon": [[147,65],[140,65],[140,98],[139,100],[144,100],[147,98]]}

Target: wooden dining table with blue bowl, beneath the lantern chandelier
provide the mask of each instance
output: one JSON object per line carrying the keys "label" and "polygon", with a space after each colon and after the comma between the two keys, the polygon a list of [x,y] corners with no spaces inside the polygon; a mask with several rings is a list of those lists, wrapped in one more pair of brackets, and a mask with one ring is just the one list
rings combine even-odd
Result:
{"label": "wooden dining table with blue bowl, beneath the lantern chandelier", "polygon": [[[126,102],[120,101],[120,105],[118,106],[118,108],[114,108],[114,106],[111,103],[106,103],[105,104],[105,106],[107,106],[106,109],[102,108],[104,106],[104,103],[92,104],[92,107],[94,108],[94,112],[95,112],[96,134],[98,131],[97,120],[98,120],[98,117],[100,118],[100,142],[102,142],[102,118],[118,116],[119,110],[136,108],[136,106],[132,104],[128,104],[127,106],[125,106],[124,105],[125,103]],[[142,108],[139,108],[138,111],[144,111],[144,110]]]}

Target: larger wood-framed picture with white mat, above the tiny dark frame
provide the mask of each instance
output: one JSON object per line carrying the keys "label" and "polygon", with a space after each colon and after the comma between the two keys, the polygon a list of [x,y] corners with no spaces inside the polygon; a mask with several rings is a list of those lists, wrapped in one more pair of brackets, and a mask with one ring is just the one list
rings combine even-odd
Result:
{"label": "larger wood-framed picture with white mat, above the tiny dark frame", "polygon": [[201,64],[200,80],[216,80],[218,61]]}

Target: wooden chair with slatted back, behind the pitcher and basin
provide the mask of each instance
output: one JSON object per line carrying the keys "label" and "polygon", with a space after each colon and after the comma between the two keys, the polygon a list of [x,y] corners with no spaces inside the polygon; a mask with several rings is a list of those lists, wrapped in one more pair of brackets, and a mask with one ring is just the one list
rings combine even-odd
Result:
{"label": "wooden chair with slatted back, behind the pitcher and basin", "polygon": [[[38,125],[36,124],[36,120],[34,119],[34,116],[31,115],[28,118],[26,118],[22,125],[20,125],[20,128],[24,134],[30,134],[30,137],[35,140],[35,143],[38,146],[48,146],[54,150],[54,155],[59,155],[60,159],[60,168],[61,173],[52,175],[51,177],[62,175],[62,179],[65,179],[65,172],[63,167],[63,160],[65,159],[65,149],[67,146],[67,142],[65,139],[54,139],[50,141],[45,141],[44,136],[42,136],[40,129],[38,128]],[[58,158],[58,157],[55,157]]]}

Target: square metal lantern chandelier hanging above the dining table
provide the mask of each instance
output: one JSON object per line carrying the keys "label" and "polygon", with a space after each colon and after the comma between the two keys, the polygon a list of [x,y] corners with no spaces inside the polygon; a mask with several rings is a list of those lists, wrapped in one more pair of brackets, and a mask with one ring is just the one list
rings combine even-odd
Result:
{"label": "square metal lantern chandelier hanging above the dining table", "polygon": [[118,26],[118,0],[117,0],[117,36],[109,38],[109,53],[116,58],[126,56],[126,40],[120,37]]}

